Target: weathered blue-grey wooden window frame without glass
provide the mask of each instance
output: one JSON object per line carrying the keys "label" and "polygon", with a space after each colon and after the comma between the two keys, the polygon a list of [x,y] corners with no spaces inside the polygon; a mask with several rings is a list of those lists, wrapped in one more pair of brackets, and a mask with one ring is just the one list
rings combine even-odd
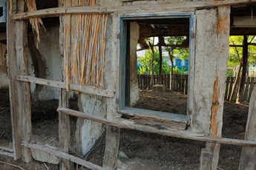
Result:
{"label": "weathered blue-grey wooden window frame without glass", "polygon": [[[156,19],[156,18],[189,18],[189,59],[188,59],[188,101],[187,101],[187,112],[186,115],[179,115],[174,114],[171,112],[157,112],[153,110],[148,109],[137,109],[131,106],[125,106],[125,90],[127,90],[125,86],[126,81],[126,67],[127,66],[127,55],[129,50],[129,43],[127,38],[129,37],[129,21],[137,21],[142,19]],[[119,105],[118,105],[118,112],[124,115],[139,115],[139,116],[145,116],[148,115],[149,117],[157,116],[160,118],[170,118],[171,120],[176,120],[180,122],[188,121],[188,109],[189,109],[189,103],[191,103],[191,89],[190,89],[190,78],[194,78],[193,75],[191,75],[190,69],[194,69],[194,27],[195,27],[195,21],[194,21],[194,13],[168,13],[168,14],[148,14],[148,15],[123,15],[119,16]],[[191,65],[192,64],[192,65]],[[193,71],[194,72],[194,71]],[[193,73],[192,72],[192,73]],[[194,81],[194,80],[193,80]],[[130,88],[128,86],[128,88]]]}

